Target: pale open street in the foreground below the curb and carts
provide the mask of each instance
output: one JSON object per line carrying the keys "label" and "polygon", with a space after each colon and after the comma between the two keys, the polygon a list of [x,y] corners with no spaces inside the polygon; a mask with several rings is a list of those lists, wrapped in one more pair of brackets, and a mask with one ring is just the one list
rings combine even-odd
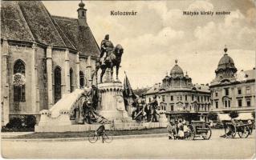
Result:
{"label": "pale open street in the foreground below the curb and carts", "polygon": [[[112,143],[2,141],[4,158],[252,158],[255,138],[168,140],[167,138],[114,139]],[[254,132],[255,134],[255,132]]]}

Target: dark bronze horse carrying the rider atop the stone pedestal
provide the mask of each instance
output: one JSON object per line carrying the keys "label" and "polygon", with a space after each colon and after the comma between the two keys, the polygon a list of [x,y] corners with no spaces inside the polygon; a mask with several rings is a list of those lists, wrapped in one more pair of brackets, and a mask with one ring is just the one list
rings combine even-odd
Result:
{"label": "dark bronze horse carrying the rider atop the stone pedestal", "polygon": [[120,44],[116,45],[116,47],[113,50],[109,50],[107,52],[107,58],[105,59],[105,64],[104,65],[101,64],[100,59],[97,60],[95,73],[92,74],[92,76],[95,75],[96,78],[97,78],[98,70],[101,69],[100,83],[102,83],[103,82],[102,78],[103,78],[106,70],[108,68],[110,68],[110,70],[111,70],[111,81],[113,81],[113,73],[114,73],[113,68],[114,68],[114,66],[116,66],[116,80],[119,81],[118,73],[119,73],[119,67],[120,67],[121,58],[122,58],[123,53],[124,53],[124,49]]}

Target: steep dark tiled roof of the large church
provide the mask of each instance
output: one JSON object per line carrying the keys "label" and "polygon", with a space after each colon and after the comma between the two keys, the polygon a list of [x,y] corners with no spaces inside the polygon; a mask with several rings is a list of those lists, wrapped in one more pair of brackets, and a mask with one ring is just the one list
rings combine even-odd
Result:
{"label": "steep dark tiled roof of the large church", "polygon": [[100,55],[90,27],[79,26],[78,19],[51,16],[39,1],[1,3],[1,38],[64,47],[82,55]]}

